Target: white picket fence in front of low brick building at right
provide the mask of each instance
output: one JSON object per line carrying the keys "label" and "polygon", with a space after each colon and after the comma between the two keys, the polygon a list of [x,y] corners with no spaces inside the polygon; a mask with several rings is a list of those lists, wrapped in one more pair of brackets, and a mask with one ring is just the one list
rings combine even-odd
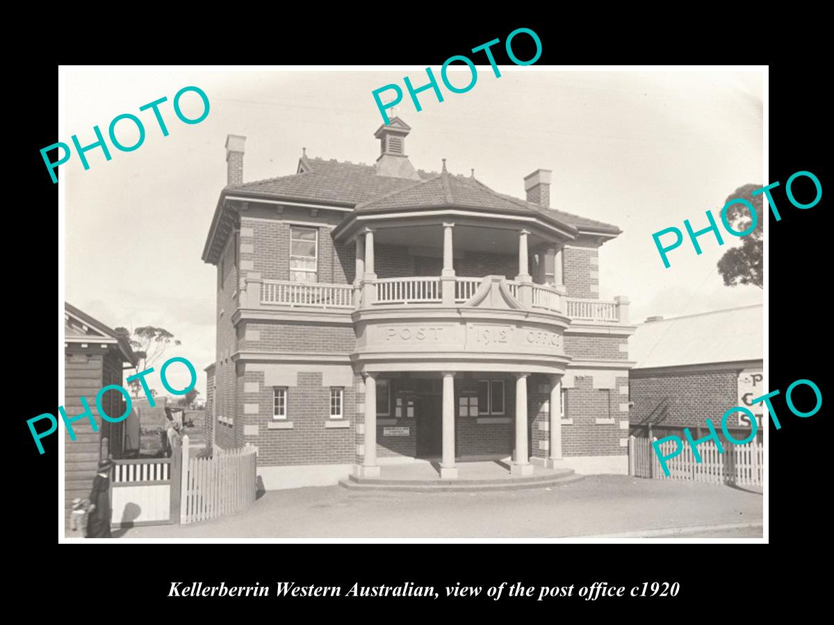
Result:
{"label": "white picket fence in front of low brick building at right", "polygon": [[[629,437],[629,474],[637,478],[676,479],[711,484],[736,484],[737,486],[761,486],[764,474],[765,450],[756,441],[746,445],[723,444],[724,453],[719,453],[716,443],[706,441],[698,445],[701,462],[688,443],[675,458],[666,460],[669,475],[663,472],[660,458],[651,443],[657,438]],[[675,441],[661,443],[660,449],[668,456],[677,448]]]}

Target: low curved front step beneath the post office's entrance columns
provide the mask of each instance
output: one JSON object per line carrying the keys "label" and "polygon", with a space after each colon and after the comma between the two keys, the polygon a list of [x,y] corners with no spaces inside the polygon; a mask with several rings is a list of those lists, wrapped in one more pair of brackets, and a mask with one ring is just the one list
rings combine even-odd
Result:
{"label": "low curved front step beneath the post office's entrance columns", "polygon": [[485,493],[490,491],[515,491],[530,488],[547,488],[578,482],[585,478],[576,475],[571,469],[562,469],[558,473],[538,475],[530,478],[500,480],[384,480],[375,478],[356,478],[351,475],[340,480],[339,486],[352,491],[388,491],[399,493]]}

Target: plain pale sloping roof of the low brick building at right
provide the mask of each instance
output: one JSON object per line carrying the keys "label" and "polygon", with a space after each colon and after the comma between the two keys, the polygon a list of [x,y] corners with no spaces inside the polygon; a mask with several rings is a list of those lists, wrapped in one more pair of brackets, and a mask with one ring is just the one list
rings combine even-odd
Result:
{"label": "plain pale sloping roof of the low brick building at right", "polygon": [[641,323],[629,338],[635,369],[761,360],[761,304]]}

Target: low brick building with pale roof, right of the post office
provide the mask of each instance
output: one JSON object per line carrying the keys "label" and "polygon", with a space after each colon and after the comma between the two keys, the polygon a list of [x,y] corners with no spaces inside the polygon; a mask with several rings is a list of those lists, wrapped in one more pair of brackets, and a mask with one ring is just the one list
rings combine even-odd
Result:
{"label": "low brick building with pale roof, right of the post office", "polygon": [[[706,435],[704,419],[720,430],[721,416],[734,406],[749,408],[761,425],[763,404],[751,399],[767,392],[762,327],[761,304],[638,325],[629,345],[636,361],[629,375],[631,433],[645,437],[651,427],[657,438],[682,437],[690,428]],[[736,439],[749,436],[750,428],[743,413],[727,420]]]}

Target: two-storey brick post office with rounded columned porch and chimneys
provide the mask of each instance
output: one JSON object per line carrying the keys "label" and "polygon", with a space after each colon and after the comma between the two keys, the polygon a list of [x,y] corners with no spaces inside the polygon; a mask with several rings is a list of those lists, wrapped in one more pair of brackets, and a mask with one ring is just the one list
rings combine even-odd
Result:
{"label": "two-storey brick post office with rounded columned porch and chimneys", "polygon": [[[512,455],[626,473],[628,300],[599,298],[620,229],[474,173],[416,170],[410,128],[380,127],[374,165],[309,158],[244,183],[245,138],[203,250],[217,267],[209,440],[254,443],[266,488],[336,483],[388,463]],[[519,181],[521,183],[521,181]],[[380,467],[382,467],[380,469]]]}

